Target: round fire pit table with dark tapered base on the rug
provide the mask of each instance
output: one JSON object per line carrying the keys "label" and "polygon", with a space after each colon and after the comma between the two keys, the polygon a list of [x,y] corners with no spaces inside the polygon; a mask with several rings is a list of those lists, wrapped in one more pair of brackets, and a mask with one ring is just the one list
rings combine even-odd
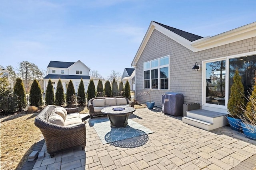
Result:
{"label": "round fire pit table with dark tapered base on the rug", "polygon": [[101,110],[102,113],[108,116],[111,127],[125,127],[128,125],[128,118],[134,111],[135,109],[129,106],[110,106]]}

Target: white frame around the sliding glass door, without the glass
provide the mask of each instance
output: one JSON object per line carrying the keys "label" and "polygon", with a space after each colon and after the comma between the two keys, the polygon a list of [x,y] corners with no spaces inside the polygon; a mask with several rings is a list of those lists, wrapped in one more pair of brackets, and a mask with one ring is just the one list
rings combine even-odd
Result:
{"label": "white frame around the sliding glass door, without the glass", "polygon": [[[237,54],[237,55],[230,55],[230,56],[226,56],[226,57],[220,57],[217,59],[210,59],[210,60],[204,60],[202,61],[202,109],[206,109],[209,110],[211,108],[216,108],[215,111],[219,111],[222,113],[227,113],[227,104],[228,104],[228,89],[229,89],[229,59],[233,59],[233,58],[238,58],[238,57],[245,57],[245,56],[249,56],[249,55],[256,55],[256,51],[252,51],[249,53],[242,53],[242,54]],[[225,81],[225,96],[226,96],[226,101],[225,101],[225,106],[223,105],[216,105],[216,104],[208,104],[206,103],[206,92],[205,92],[205,88],[206,88],[206,80],[205,80],[205,69],[206,69],[206,63],[210,63],[210,62],[214,62],[214,61],[221,61],[221,60],[225,60],[226,62],[226,81]]]}

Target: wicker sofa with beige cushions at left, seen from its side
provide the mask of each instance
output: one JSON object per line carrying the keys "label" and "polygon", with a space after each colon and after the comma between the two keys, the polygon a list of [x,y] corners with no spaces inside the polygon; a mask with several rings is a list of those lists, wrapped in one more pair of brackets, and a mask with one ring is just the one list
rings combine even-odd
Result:
{"label": "wicker sofa with beige cushions at left, seen from its side", "polygon": [[[57,115],[59,109],[62,109],[60,116]],[[62,112],[66,113],[66,115],[63,115]],[[62,124],[63,117],[66,118],[64,125]],[[44,135],[47,152],[51,157],[54,157],[54,153],[56,152],[73,147],[82,147],[82,150],[85,149],[86,125],[83,119],[84,117],[78,113],[78,107],[57,108],[57,106],[53,105],[46,106],[36,116],[34,123]]]}

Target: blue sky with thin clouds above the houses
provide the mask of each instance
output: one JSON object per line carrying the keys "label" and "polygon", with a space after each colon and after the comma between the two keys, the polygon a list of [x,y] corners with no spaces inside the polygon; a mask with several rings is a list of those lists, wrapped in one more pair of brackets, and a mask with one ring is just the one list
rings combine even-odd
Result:
{"label": "blue sky with thin clouds above the houses", "polygon": [[0,64],[80,60],[122,74],[152,20],[214,36],[256,21],[256,0],[0,0]]}

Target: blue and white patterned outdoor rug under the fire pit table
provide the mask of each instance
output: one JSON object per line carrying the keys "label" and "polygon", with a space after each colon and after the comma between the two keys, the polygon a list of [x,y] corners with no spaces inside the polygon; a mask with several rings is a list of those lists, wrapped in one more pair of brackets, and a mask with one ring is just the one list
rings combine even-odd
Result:
{"label": "blue and white patterned outdoor rug under the fire pit table", "polygon": [[88,121],[100,137],[103,144],[121,141],[132,137],[138,137],[154,133],[150,129],[128,119],[126,127],[110,127],[110,121],[107,117],[97,117]]}

